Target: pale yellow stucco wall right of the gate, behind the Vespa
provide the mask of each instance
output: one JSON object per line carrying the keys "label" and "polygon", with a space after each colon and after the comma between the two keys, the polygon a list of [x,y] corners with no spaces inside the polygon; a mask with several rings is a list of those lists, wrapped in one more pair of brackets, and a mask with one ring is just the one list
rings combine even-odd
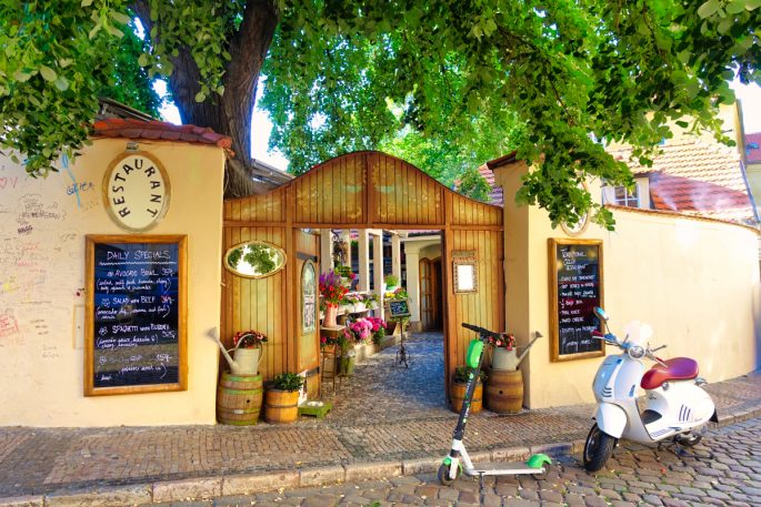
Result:
{"label": "pale yellow stucco wall right of the gate, behind the Vespa", "polygon": [[[494,171],[504,195],[514,195],[523,164]],[[593,195],[599,185],[590,184]],[[615,231],[590,225],[580,239],[603,242],[604,307],[614,333],[639,320],[654,328],[663,357],[691,356],[709,382],[753,371],[759,362],[758,234],[748,227],[655,213],[617,211]],[[550,362],[547,212],[517,207],[505,197],[507,328],[519,345],[539,339],[523,362],[527,406],[593,402],[601,358]],[[608,347],[608,353],[617,353]]]}

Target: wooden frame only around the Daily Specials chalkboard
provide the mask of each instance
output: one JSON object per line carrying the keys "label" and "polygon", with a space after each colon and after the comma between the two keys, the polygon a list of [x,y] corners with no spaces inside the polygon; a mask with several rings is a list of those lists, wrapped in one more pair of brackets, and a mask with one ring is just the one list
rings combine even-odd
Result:
{"label": "wooden frame only around the Daily Specials chalkboard", "polygon": [[[96,245],[98,244],[171,244],[177,245],[177,382],[97,387],[94,384],[96,338]],[[86,245],[86,318],[84,318],[84,396],[157,393],[188,389],[188,236],[99,234],[87,235]],[[139,347],[134,347],[136,349]]]}

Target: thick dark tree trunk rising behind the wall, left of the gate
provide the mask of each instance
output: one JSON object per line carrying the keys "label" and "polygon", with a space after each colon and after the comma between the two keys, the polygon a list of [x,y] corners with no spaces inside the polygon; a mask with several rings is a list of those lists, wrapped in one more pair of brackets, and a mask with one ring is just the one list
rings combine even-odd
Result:
{"label": "thick dark tree trunk rising behind the wall, left of the gate", "polygon": [[[140,21],[150,33],[152,22],[144,0],[132,4]],[[251,115],[257,97],[259,73],[272,43],[280,20],[274,1],[249,0],[240,29],[229,41],[232,57],[224,72],[224,94],[213,94],[203,102],[196,102],[200,91],[200,73],[190,49],[183,48],[172,59],[174,70],[169,77],[169,88],[180,110],[182,123],[209,126],[214,132],[232,139],[234,158],[226,168],[226,197],[239,197],[266,190],[251,176]]]}

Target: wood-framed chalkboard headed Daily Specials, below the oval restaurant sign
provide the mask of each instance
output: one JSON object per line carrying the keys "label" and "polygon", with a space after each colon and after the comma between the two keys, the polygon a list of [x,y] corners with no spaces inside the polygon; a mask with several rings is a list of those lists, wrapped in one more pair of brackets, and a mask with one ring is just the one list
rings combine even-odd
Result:
{"label": "wood-framed chalkboard headed Daily Specials, below the oval restaurant sign", "polygon": [[186,241],[87,236],[86,396],[187,388]]}

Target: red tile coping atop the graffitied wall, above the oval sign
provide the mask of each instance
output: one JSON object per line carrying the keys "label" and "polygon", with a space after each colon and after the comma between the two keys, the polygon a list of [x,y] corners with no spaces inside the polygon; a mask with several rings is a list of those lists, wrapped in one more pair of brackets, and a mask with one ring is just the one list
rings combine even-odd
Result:
{"label": "red tile coping atop the graffitied wall, above the oval sign", "polygon": [[196,125],[176,125],[161,121],[140,121],[121,118],[98,120],[96,138],[146,139],[151,141],[180,141],[194,144],[210,144],[230,151],[232,139],[211,129]]}

